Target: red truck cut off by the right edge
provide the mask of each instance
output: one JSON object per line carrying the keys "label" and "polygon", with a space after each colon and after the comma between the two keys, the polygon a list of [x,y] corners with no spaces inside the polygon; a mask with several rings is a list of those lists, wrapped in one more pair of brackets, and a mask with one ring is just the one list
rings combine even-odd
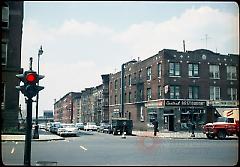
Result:
{"label": "red truck cut off by the right edge", "polygon": [[203,126],[203,133],[208,139],[214,139],[216,136],[218,139],[233,135],[239,137],[239,110],[224,111],[223,116],[218,117],[216,122]]}

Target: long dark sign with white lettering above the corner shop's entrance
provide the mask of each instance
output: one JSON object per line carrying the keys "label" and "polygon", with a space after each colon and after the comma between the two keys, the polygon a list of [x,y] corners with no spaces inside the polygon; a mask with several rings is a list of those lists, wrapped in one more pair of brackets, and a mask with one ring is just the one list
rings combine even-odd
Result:
{"label": "long dark sign with white lettering above the corner shop's entrance", "polygon": [[206,101],[165,100],[165,106],[206,106]]}

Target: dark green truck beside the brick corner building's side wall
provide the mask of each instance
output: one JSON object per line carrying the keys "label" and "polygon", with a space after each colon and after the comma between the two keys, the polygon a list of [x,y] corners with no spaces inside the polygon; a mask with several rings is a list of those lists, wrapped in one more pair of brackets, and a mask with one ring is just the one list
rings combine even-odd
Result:
{"label": "dark green truck beside the brick corner building's side wall", "polygon": [[127,135],[132,135],[133,122],[127,118],[112,118],[109,127],[109,133],[117,135],[120,132],[122,135],[126,132]]}

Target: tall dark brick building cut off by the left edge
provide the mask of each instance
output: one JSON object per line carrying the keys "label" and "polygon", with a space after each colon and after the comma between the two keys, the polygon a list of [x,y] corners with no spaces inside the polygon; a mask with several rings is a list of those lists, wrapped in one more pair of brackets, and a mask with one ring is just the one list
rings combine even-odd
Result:
{"label": "tall dark brick building cut off by the left edge", "polygon": [[2,83],[1,127],[17,127],[19,114],[19,85],[16,74],[22,73],[21,44],[23,1],[4,1],[2,5]]}

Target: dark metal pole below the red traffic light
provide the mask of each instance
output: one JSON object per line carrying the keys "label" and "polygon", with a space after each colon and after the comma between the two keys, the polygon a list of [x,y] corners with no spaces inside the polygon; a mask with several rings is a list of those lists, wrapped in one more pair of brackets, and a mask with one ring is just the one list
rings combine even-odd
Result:
{"label": "dark metal pole below the red traffic light", "polygon": [[27,99],[27,129],[25,135],[24,165],[31,165],[31,139],[32,139],[32,99]]}

